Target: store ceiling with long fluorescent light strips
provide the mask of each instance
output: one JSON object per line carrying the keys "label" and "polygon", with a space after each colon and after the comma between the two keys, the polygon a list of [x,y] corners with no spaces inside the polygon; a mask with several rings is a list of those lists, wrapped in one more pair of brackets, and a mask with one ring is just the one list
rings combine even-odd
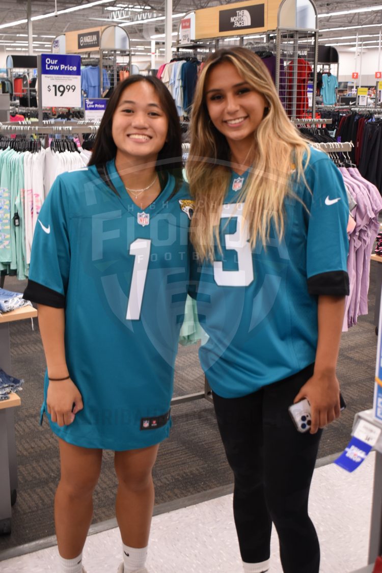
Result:
{"label": "store ceiling with long fluorescent light strips", "polygon": [[[340,15],[325,15],[320,17],[319,28],[321,30],[320,43],[333,44],[337,43],[337,49],[349,49],[351,43],[355,42],[355,36],[359,32],[364,47],[377,46],[379,42],[379,32],[382,29],[382,0],[338,0],[337,2],[328,2],[328,0],[316,0],[318,14],[329,14],[337,11],[362,10],[357,13],[345,13]],[[57,10],[66,10],[73,6],[86,6],[93,3],[92,0],[86,2],[81,0],[57,0]],[[200,9],[216,4],[226,4],[231,2],[219,2],[214,0],[173,0],[173,13],[185,13],[192,9]],[[139,9],[129,10],[123,6],[145,6],[141,11]],[[369,7],[378,7],[379,10],[367,11]],[[116,11],[111,10],[114,8]],[[41,14],[54,13],[54,0],[31,0],[32,18]],[[119,11],[119,12],[117,12]],[[164,33],[164,21],[155,22],[134,22],[134,18],[140,17],[145,13],[151,17],[164,15],[164,0],[115,0],[105,1],[102,4],[91,6],[86,9],[59,14],[57,17],[49,17],[33,21],[33,41],[41,42],[34,44],[35,53],[45,51],[49,48],[53,37],[70,30],[80,30],[94,26],[105,25],[108,19],[111,23],[113,17],[120,18],[120,22],[129,22],[125,29],[129,36],[135,40],[143,40],[143,45],[149,46],[148,41],[151,36],[157,36]],[[155,14],[153,14],[155,13]],[[26,19],[27,17],[27,0],[1,0],[0,10],[0,50],[6,50],[7,53],[27,53],[27,24],[6,26],[9,23]],[[174,18],[173,29],[178,29],[180,18]],[[131,24],[130,24],[131,22]],[[361,27],[364,26],[364,27]],[[340,28],[332,30],[332,28]],[[344,30],[344,28],[349,28]],[[330,30],[328,30],[330,29]],[[327,31],[326,31],[327,30]],[[21,34],[21,35],[20,35]],[[346,38],[344,38],[346,36]],[[347,38],[348,37],[348,38]],[[175,39],[175,36],[174,36]],[[164,41],[164,38],[156,38],[157,41]],[[142,48],[140,48],[142,49]]]}

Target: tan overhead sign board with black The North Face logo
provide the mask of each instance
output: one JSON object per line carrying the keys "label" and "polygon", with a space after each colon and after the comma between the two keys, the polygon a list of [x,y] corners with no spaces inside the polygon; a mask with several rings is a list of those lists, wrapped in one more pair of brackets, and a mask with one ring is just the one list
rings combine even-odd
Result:
{"label": "tan overhead sign board with black The North Face logo", "polygon": [[277,19],[279,4],[279,0],[252,0],[196,10],[195,40],[266,32],[269,22]]}

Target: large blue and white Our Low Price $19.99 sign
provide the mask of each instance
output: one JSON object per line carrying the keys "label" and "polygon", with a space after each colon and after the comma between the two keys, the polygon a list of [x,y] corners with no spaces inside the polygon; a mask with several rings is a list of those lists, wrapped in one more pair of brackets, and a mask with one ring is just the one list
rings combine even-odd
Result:
{"label": "large blue and white Our Low Price $19.99 sign", "polygon": [[41,54],[43,107],[81,107],[81,57]]}

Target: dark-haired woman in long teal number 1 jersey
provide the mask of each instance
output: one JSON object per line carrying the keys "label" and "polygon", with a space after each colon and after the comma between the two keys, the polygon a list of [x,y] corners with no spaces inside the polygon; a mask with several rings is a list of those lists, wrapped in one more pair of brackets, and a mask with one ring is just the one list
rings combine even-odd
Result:
{"label": "dark-haired woman in long teal number 1 jersey", "polygon": [[[191,201],[175,103],[131,76],[111,97],[89,167],[60,175],[33,239],[45,413],[58,436],[60,572],[79,573],[103,449],[115,452],[119,572],[146,571],[152,467],[170,431],[188,283]],[[187,206],[187,208],[186,208]]]}

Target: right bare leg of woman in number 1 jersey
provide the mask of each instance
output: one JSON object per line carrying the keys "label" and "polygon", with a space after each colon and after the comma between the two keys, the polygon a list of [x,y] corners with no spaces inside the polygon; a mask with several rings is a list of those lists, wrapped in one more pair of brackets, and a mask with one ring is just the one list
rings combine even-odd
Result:
{"label": "right bare leg of woman in number 1 jersey", "polygon": [[118,478],[116,517],[122,541],[137,549],[147,547],[154,505],[152,468],[159,444],[140,450],[115,452]]}

